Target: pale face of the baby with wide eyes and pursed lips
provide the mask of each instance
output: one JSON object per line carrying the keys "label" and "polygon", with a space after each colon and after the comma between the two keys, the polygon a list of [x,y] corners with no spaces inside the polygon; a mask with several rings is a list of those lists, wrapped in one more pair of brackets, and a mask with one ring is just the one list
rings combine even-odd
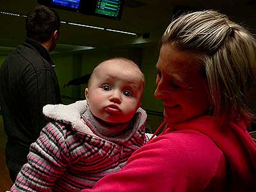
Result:
{"label": "pale face of the baby with wide eyes and pursed lips", "polygon": [[109,124],[120,124],[131,120],[140,107],[143,78],[136,67],[102,65],[85,92],[93,115]]}

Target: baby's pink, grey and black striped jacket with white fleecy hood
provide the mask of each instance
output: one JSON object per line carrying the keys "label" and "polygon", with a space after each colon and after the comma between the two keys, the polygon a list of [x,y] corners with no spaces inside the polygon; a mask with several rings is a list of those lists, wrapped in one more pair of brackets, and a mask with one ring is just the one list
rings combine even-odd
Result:
{"label": "baby's pink, grey and black striped jacket with white fleecy hood", "polygon": [[53,121],[30,147],[11,191],[81,191],[92,188],[108,173],[120,170],[131,154],[148,141],[147,115],[138,109],[134,129],[125,139],[102,138],[86,124],[86,101],[68,106],[47,105],[45,116]]}

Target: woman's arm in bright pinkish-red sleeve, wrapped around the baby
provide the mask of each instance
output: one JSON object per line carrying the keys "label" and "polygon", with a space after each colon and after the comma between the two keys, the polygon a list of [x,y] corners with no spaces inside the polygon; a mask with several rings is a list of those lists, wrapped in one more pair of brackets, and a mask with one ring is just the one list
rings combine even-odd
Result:
{"label": "woman's arm in bright pinkish-red sleeve, wrapped around the baby", "polygon": [[157,136],[136,150],[120,172],[82,192],[203,191],[221,178],[225,158],[209,138],[192,132]]}

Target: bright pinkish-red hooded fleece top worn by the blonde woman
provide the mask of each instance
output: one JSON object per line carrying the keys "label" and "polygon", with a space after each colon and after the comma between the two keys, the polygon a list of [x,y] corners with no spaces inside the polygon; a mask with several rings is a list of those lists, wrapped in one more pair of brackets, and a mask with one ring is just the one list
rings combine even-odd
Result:
{"label": "bright pinkish-red hooded fleece top worn by the blonde woman", "polygon": [[255,191],[256,145],[241,120],[211,116],[170,125],[126,166],[82,192]]}

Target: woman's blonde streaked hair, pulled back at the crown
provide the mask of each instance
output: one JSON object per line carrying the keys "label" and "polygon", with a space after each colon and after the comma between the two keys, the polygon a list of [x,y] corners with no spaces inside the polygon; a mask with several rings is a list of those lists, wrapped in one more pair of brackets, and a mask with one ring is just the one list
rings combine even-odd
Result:
{"label": "woman's blonde streaked hair, pulled back at the crown", "polygon": [[218,122],[236,115],[250,123],[248,90],[256,75],[256,42],[251,33],[226,15],[206,10],[174,19],[161,39],[163,44],[195,53],[205,66],[211,111]]}

